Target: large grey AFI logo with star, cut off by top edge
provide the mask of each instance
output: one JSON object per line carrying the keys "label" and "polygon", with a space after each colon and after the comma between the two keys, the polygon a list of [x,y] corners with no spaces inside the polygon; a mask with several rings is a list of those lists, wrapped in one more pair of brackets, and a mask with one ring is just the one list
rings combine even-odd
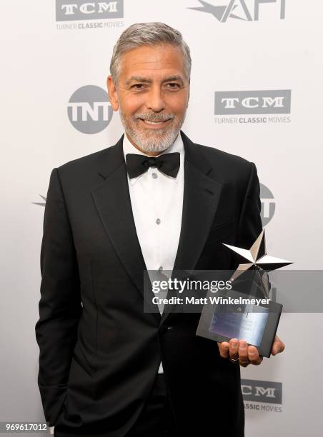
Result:
{"label": "large grey AFI logo with star, cut off by top edge", "polygon": [[[219,0],[217,1],[219,2]],[[277,16],[281,20],[285,18],[285,0],[230,0],[226,5],[214,6],[207,1],[199,0],[202,6],[194,8],[195,11],[207,12],[212,14],[220,23],[227,22],[228,19],[237,19],[242,21],[258,21],[259,16],[266,14],[268,6],[266,3],[272,3],[271,7],[277,11]],[[247,4],[249,6],[247,6]]]}

